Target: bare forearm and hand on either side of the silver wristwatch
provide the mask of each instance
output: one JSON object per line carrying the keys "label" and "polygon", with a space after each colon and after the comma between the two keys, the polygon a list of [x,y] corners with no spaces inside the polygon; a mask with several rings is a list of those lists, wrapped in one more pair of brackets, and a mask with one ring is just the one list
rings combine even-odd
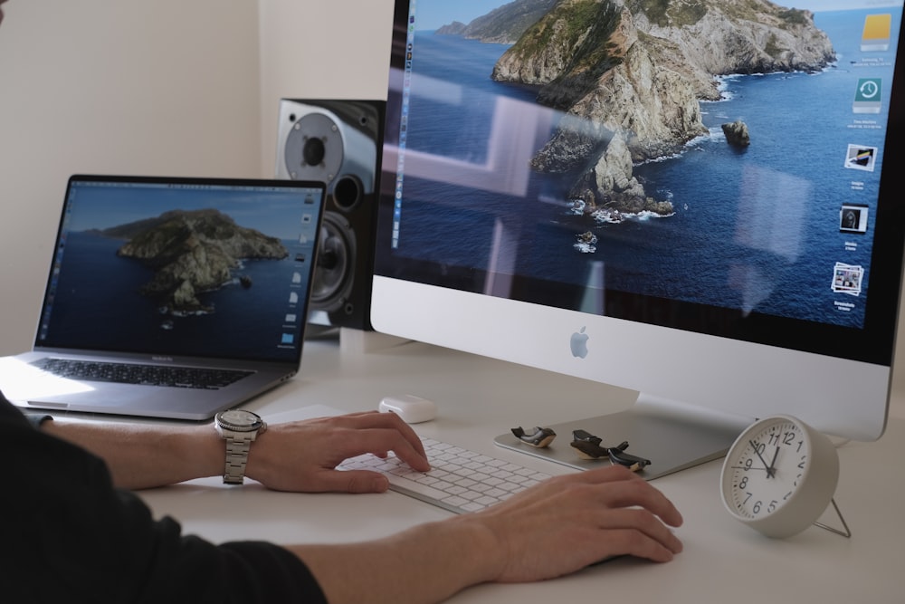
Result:
{"label": "bare forearm and hand on either side of the silver wristwatch", "polygon": [[[110,466],[115,484],[142,489],[224,474],[226,445],[213,424],[117,424],[58,419],[42,429],[88,449]],[[252,442],[245,476],[281,491],[386,491],[374,473],[338,472],[349,457],[394,452],[427,470],[421,443],[391,413],[357,413],[276,424]]]}

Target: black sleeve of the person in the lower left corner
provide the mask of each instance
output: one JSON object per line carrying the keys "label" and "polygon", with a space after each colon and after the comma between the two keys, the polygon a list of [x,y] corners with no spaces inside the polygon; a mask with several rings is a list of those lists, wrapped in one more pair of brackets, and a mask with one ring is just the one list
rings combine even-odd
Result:
{"label": "black sleeve of the person in the lower left corner", "polygon": [[154,520],[113,488],[103,461],[35,429],[0,395],[11,474],[0,495],[9,602],[326,602],[290,551],[267,542],[214,545]]}

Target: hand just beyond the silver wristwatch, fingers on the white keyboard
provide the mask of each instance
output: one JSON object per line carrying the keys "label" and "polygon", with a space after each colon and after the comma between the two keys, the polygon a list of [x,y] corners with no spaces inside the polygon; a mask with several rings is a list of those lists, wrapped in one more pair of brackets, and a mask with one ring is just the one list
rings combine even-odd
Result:
{"label": "hand just beyond the silver wristwatch, fingers on the white keyboard", "polygon": [[394,452],[415,470],[430,464],[421,439],[394,413],[355,413],[267,427],[252,443],[246,475],[277,491],[382,493],[386,476],[336,470],[349,457]]}

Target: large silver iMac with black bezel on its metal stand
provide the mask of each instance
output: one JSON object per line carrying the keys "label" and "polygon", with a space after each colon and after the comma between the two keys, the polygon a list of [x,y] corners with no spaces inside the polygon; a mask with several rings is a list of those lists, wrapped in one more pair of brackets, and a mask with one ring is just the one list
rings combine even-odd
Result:
{"label": "large silver iMac with black bezel on its metal stand", "polygon": [[654,4],[395,1],[376,331],[638,391],[554,428],[648,477],[773,414],[879,438],[902,2]]}

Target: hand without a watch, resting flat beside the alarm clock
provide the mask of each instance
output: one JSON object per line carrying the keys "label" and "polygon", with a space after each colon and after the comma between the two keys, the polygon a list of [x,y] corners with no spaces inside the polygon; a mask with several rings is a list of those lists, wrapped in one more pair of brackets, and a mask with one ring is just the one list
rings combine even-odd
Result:
{"label": "hand without a watch, resting flat beside the alarm clock", "polygon": [[629,554],[670,561],[681,542],[675,506],[622,466],[556,476],[463,521],[495,537],[501,582],[543,580]]}

